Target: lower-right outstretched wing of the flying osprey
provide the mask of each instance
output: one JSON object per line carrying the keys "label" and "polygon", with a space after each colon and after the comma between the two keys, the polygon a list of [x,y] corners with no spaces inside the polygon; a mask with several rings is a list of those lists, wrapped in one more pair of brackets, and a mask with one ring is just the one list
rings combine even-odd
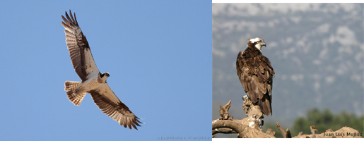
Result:
{"label": "lower-right outstretched wing of the flying osprey", "polygon": [[104,114],[113,118],[120,125],[124,125],[124,128],[128,126],[131,129],[131,126],[133,126],[138,130],[136,125],[140,126],[139,118],[129,110],[127,105],[117,98],[107,83],[100,84],[97,90],[91,90],[89,93],[93,97],[93,102],[98,105]]}

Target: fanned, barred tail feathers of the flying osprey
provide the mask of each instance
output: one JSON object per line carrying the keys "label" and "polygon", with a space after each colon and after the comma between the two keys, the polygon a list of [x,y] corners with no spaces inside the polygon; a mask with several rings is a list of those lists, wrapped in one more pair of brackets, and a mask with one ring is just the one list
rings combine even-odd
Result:
{"label": "fanned, barred tail feathers of the flying osprey", "polygon": [[66,91],[67,97],[69,97],[69,101],[71,101],[73,104],[80,106],[83,97],[86,96],[86,92],[77,94],[75,92],[75,89],[78,85],[80,85],[81,82],[74,82],[74,81],[66,81],[64,83],[64,90]]}

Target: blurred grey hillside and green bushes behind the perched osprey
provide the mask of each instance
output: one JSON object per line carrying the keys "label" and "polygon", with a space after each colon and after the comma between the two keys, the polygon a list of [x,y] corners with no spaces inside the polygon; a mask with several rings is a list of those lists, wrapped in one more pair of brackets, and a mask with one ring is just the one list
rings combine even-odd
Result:
{"label": "blurred grey hillside and green bushes behind the perched osprey", "polygon": [[[230,99],[230,114],[245,118],[235,61],[247,39],[262,37],[276,72],[273,116],[293,136],[344,125],[363,133],[363,4],[212,4],[213,117]],[[277,135],[281,133],[276,130]],[[236,135],[216,135],[236,137]]]}

